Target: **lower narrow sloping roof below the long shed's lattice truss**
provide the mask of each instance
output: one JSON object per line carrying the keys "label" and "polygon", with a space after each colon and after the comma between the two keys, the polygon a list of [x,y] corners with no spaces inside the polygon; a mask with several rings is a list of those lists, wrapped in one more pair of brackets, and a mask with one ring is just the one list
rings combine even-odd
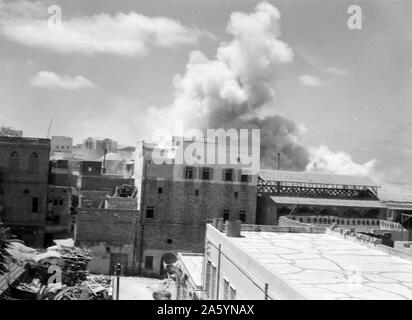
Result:
{"label": "lower narrow sloping roof below the long shed's lattice truss", "polygon": [[376,201],[376,200],[345,200],[345,199],[275,197],[275,196],[271,196],[270,198],[275,203],[278,203],[278,204],[356,207],[356,208],[386,208],[380,201]]}

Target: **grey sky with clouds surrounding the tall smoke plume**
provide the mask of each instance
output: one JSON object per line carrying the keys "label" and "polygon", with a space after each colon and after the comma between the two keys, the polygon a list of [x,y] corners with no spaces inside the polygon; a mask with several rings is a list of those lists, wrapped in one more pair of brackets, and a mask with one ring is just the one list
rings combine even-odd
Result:
{"label": "grey sky with clouds surrounding the tall smoke plume", "polygon": [[[299,126],[297,139],[310,150],[311,164],[411,184],[412,5],[356,1],[362,28],[351,30],[353,2],[267,1],[261,12],[277,8],[279,17],[270,11],[275,38],[293,55],[277,61],[270,77],[275,97],[263,112]],[[45,137],[53,119],[51,135],[75,142],[149,139],[156,123],[172,121],[159,110],[176,106],[192,53],[219,62],[219,48],[248,34],[246,19],[228,30],[236,22],[232,14],[258,19],[259,3],[0,0],[0,125]],[[61,8],[60,29],[48,25],[53,5]]]}

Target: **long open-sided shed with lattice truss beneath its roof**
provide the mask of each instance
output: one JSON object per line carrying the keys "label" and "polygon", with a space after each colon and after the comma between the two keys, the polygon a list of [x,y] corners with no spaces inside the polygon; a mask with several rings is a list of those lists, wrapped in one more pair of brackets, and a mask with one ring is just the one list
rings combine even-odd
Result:
{"label": "long open-sided shed with lattice truss beneath its roof", "polygon": [[258,224],[277,224],[280,216],[314,224],[323,224],[324,218],[355,219],[352,227],[368,230],[387,217],[380,186],[368,177],[276,170],[258,175]]}

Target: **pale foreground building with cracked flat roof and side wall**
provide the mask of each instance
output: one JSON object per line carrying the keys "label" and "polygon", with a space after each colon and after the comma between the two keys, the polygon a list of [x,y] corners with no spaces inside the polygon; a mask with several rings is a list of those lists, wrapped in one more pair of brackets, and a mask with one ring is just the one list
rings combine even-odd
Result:
{"label": "pale foreground building with cracked flat roof and side wall", "polygon": [[202,299],[412,299],[412,255],[372,237],[236,222],[223,230],[207,225]]}

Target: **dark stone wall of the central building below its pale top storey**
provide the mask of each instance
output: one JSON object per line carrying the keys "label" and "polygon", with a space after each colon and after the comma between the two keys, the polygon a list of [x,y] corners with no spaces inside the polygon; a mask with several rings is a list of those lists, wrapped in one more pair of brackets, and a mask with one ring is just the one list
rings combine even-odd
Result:
{"label": "dark stone wall of the central building below its pale top storey", "polygon": [[[226,209],[229,219],[238,220],[244,210],[246,223],[255,223],[255,185],[161,179],[143,181],[143,269],[145,257],[153,257],[153,269],[144,270],[147,275],[159,274],[165,253],[203,252],[206,220],[223,217]],[[148,206],[153,207],[153,218],[147,218]]]}

